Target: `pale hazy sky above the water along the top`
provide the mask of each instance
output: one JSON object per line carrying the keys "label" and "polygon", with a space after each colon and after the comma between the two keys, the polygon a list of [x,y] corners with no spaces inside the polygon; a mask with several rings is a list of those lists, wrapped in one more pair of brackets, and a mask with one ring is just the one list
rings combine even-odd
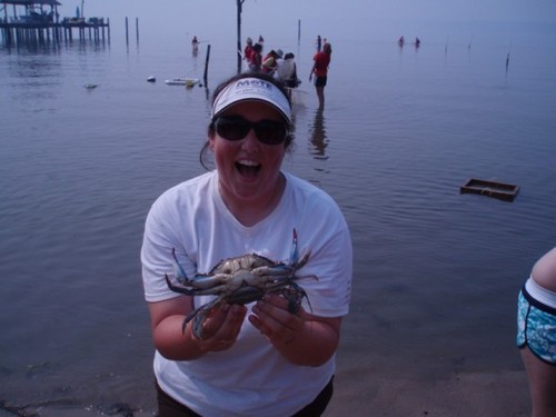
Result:
{"label": "pale hazy sky above the water along the top", "polygon": [[[59,0],[61,16],[73,16],[81,0]],[[170,36],[236,34],[236,0],[85,0],[86,17],[108,17],[119,26],[138,18],[141,30]],[[371,37],[430,30],[451,22],[539,22],[556,26],[556,0],[245,0],[242,33],[297,32]],[[512,33],[514,34],[514,33]],[[390,34],[388,34],[390,36]],[[439,33],[445,39],[446,33]],[[466,34],[468,36],[468,34]],[[429,34],[430,37],[430,34]],[[515,33],[518,37],[518,33]]]}

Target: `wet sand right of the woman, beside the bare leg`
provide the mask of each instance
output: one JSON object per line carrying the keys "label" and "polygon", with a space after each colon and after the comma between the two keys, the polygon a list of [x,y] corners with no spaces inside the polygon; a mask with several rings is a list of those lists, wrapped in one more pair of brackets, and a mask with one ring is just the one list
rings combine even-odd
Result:
{"label": "wet sand right of the woman, beside the bare leg", "polygon": [[525,371],[459,373],[448,379],[338,375],[326,416],[515,417],[529,415]]}

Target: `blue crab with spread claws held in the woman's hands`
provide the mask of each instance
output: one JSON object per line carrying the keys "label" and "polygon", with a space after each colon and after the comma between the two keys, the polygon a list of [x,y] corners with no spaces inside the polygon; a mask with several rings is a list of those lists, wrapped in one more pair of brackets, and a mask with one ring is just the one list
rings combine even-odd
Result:
{"label": "blue crab with spread claws held in the woman's hands", "polygon": [[[288,310],[296,312],[304,298],[307,298],[305,290],[295,280],[300,278],[295,274],[302,268],[310,257],[308,250],[299,258],[297,250],[297,231],[294,229],[290,259],[288,264],[276,262],[257,254],[246,254],[236,258],[224,259],[218,262],[209,274],[196,274],[189,278],[178,262],[176,249],[172,248],[172,264],[178,285],[172,284],[165,274],[168,287],[176,292],[188,296],[215,295],[214,300],[193,309],[183,320],[182,330],[186,325],[193,321],[193,335],[202,339],[202,322],[209,311],[216,306],[228,302],[245,305],[260,300],[265,294],[277,292],[288,299]],[[309,299],[307,298],[307,301]],[[309,304],[310,307],[310,304]]]}

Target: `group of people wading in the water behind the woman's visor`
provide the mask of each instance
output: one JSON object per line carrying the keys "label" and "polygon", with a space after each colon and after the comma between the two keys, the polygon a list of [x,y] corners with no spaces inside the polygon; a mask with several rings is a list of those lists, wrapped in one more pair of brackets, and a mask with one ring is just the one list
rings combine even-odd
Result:
{"label": "group of people wading in the water behind the woman's visor", "polygon": [[[320,39],[320,36],[318,37]],[[285,87],[297,88],[301,80],[297,76],[297,66],[295,56],[291,52],[284,53],[281,49],[271,49],[265,56],[262,54],[264,38],[259,36],[257,42],[254,43],[251,38],[247,38],[244,49],[244,59],[250,72],[262,72],[276,78]],[[319,108],[325,106],[325,86],[327,83],[328,66],[330,64],[330,56],[332,49],[329,42],[326,41],[320,48],[318,44],[317,52],[314,56],[314,66],[309,75],[309,81],[312,81],[315,76],[315,89],[319,100]]]}

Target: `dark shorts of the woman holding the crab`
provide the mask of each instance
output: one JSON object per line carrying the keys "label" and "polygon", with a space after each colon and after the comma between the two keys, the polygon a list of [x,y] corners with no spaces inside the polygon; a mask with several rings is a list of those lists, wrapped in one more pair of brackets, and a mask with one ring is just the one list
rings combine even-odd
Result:
{"label": "dark shorts of the woman holding the crab", "polygon": [[[317,417],[325,413],[330,398],[334,394],[334,376],[330,378],[326,387],[319,393],[315,400],[308,406],[297,411],[292,417]],[[158,413],[157,417],[201,417],[199,414],[189,409],[185,405],[176,401],[172,397],[166,394],[157,384]]]}

